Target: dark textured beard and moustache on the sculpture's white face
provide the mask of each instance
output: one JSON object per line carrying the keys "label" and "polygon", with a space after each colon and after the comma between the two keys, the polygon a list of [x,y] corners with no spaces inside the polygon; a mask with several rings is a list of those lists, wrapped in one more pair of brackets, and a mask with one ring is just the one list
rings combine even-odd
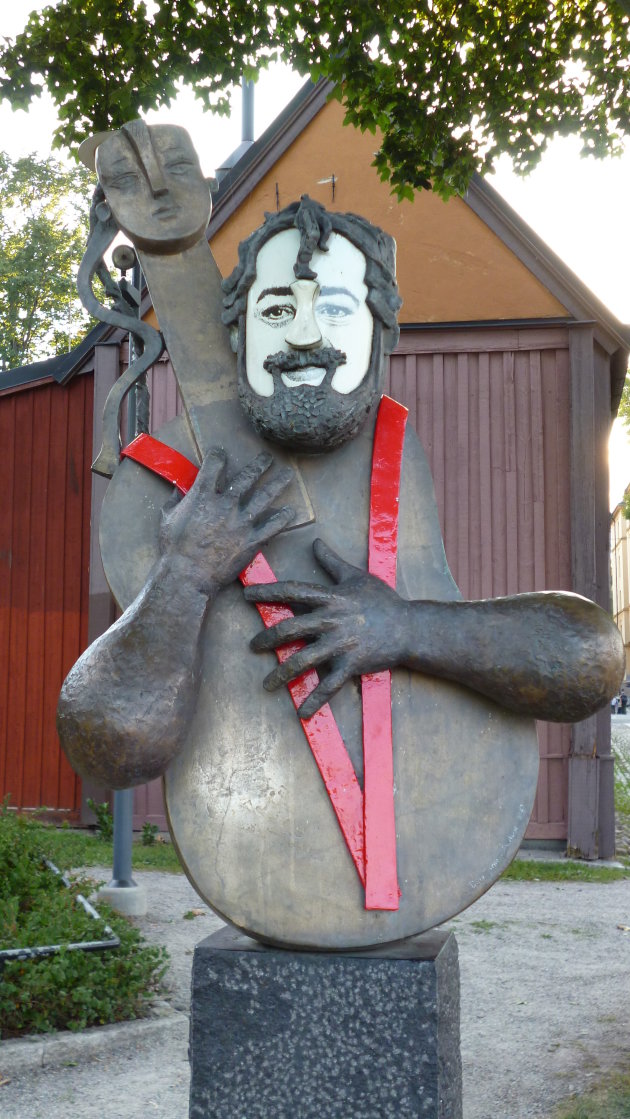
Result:
{"label": "dark textured beard and moustache on the sculpture's white face", "polygon": [[[382,393],[380,330],[376,322],[369,368],[360,385],[344,395],[332,388],[331,380],[345,360],[346,355],[332,348],[272,354],[264,361],[273,376],[272,396],[254,393],[244,361],[239,361],[238,396],[255,430],[264,439],[299,451],[331,451],[354,439]],[[320,385],[288,387],[283,383],[283,373],[313,366],[326,369]]]}

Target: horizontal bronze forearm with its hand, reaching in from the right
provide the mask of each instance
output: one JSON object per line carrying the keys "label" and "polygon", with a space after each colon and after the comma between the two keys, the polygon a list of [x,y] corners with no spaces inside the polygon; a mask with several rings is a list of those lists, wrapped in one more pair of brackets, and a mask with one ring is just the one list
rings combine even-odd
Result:
{"label": "horizontal bronze forearm with its hand, reaching in from the right", "polygon": [[278,583],[245,591],[251,601],[310,608],[253,642],[256,650],[300,638],[309,642],[267,676],[270,689],[307,668],[329,666],[300,708],[303,718],[351,676],[396,666],[454,680],[508,711],[555,722],[585,718],[619,688],[621,634],[587,599],[540,592],[479,602],[407,602],[321,540],[314,552],[336,585]]}

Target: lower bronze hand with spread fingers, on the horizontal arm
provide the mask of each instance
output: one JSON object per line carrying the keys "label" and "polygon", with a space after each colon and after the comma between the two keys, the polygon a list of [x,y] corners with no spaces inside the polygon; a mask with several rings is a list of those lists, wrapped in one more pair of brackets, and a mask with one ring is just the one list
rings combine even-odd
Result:
{"label": "lower bronze hand with spread fingers, on the horizontal arm", "polygon": [[301,718],[314,715],[350,677],[399,664],[407,605],[386,583],[352,567],[322,540],[314,542],[313,552],[336,586],[285,582],[245,587],[250,602],[310,608],[310,613],[280,622],[252,641],[256,651],[297,640],[309,642],[270,673],[264,680],[270,692],[309,668],[330,665],[328,675],[300,707]]}

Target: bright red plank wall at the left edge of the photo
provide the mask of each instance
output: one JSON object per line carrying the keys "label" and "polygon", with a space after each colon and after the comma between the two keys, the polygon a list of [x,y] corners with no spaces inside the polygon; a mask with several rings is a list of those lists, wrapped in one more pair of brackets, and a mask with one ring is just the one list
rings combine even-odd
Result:
{"label": "bright red plank wall at the left edge of the photo", "polygon": [[55,732],[87,639],[93,378],[0,396],[0,794],[78,814]]}

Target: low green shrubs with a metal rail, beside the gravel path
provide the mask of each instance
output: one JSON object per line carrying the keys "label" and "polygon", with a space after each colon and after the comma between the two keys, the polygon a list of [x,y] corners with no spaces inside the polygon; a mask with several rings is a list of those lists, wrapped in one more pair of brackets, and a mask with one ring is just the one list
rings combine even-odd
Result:
{"label": "low green shrubs with a metal rail, beside the gravel path", "polygon": [[0,949],[70,944],[107,939],[120,948],[104,952],[62,948],[43,959],[4,965],[0,982],[0,1037],[83,1029],[141,1017],[167,967],[163,948],[143,943],[129,922],[100,905],[95,921],[76,902],[93,883],[76,880],[67,890],[44,862],[47,828],[0,811]]}

